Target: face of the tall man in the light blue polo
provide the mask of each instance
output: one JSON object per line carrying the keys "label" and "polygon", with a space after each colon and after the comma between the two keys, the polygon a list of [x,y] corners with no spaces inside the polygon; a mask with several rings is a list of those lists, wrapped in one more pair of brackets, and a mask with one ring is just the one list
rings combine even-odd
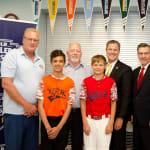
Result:
{"label": "face of the tall man in the light blue polo", "polygon": [[27,31],[23,37],[23,49],[27,53],[34,53],[39,43],[38,32]]}

